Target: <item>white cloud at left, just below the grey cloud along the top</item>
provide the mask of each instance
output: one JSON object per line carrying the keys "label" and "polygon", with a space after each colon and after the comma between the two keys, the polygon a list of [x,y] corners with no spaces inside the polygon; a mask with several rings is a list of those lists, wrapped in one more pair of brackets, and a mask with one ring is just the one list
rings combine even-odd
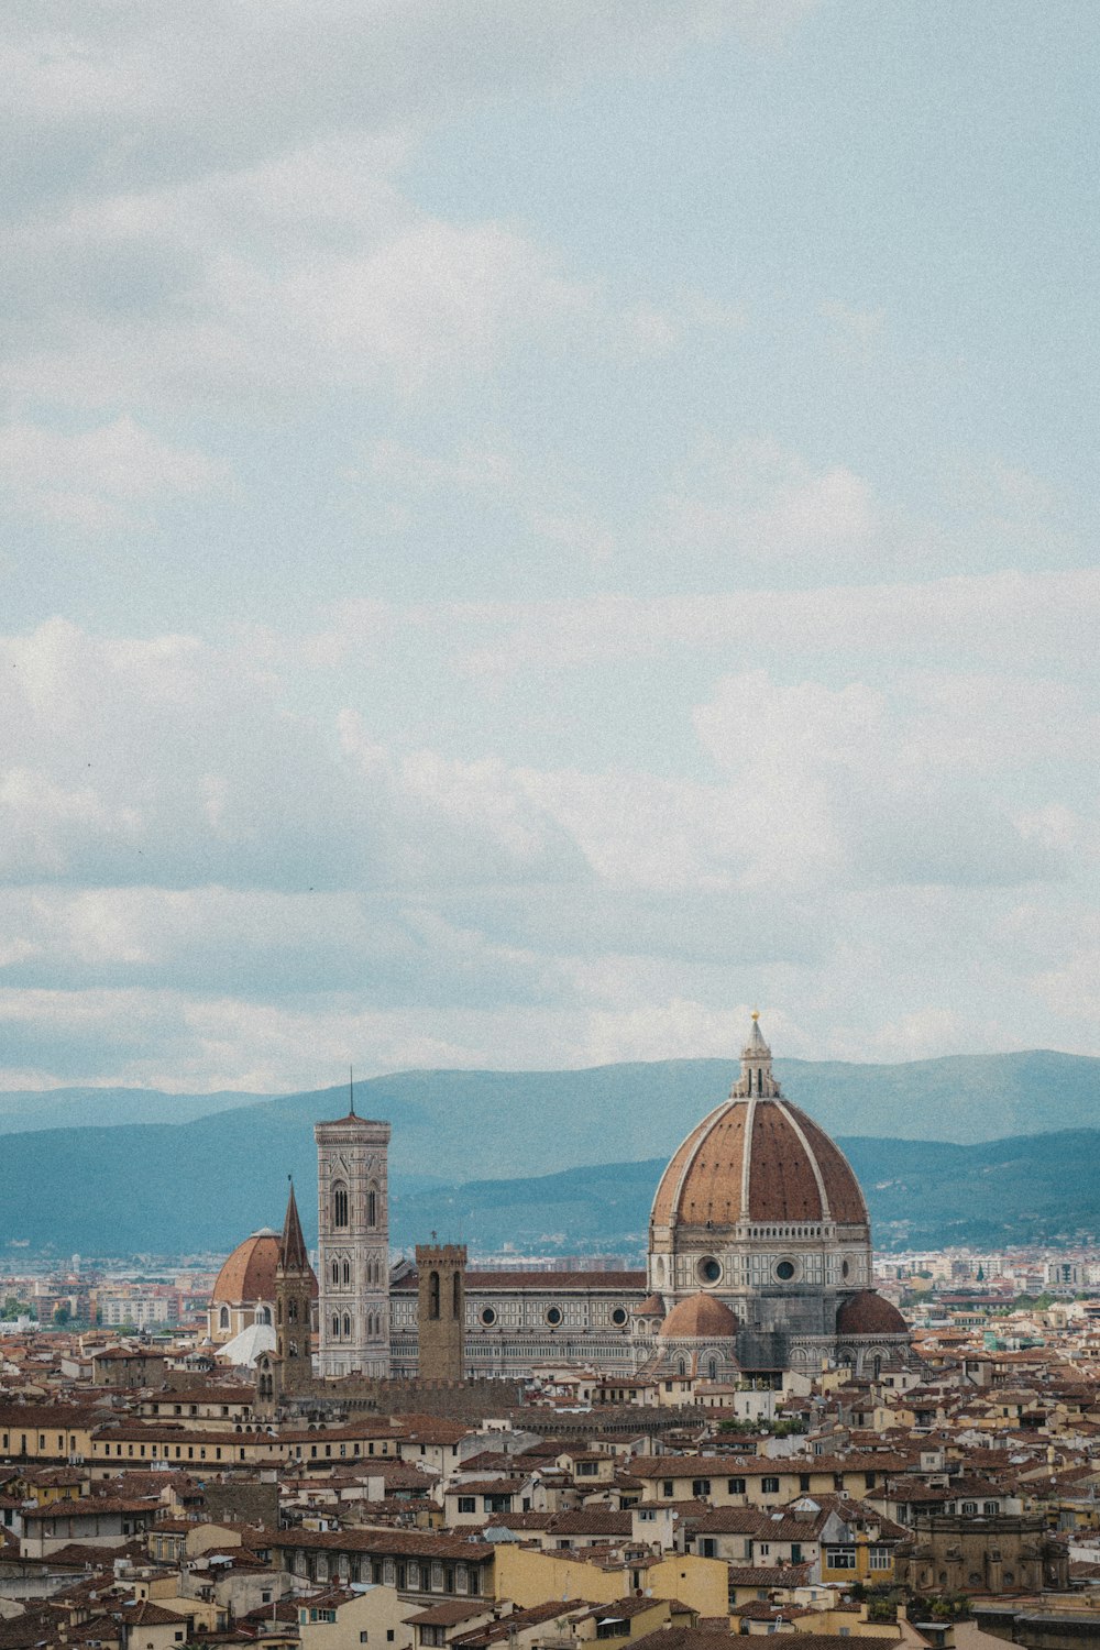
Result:
{"label": "white cloud at left, just below the grey cloud along the top", "polygon": [[587,317],[590,294],[521,231],[425,218],[384,177],[350,186],[351,163],[328,147],[30,226],[8,302],[36,323],[10,330],[12,388],[81,408],[414,394]]}

